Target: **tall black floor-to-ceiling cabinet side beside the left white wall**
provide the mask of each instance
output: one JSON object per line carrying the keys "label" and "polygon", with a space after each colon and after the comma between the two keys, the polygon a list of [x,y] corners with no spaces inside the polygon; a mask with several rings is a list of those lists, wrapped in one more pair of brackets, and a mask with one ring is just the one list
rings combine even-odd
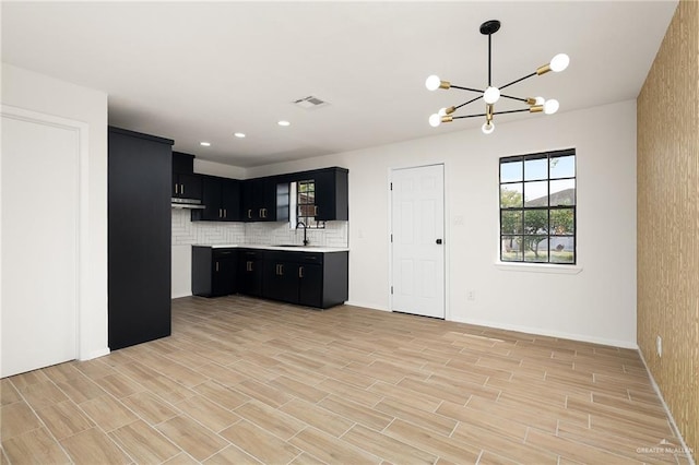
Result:
{"label": "tall black floor-to-ceiling cabinet side beside the left white wall", "polygon": [[173,141],[108,130],[108,344],[170,335]]}

